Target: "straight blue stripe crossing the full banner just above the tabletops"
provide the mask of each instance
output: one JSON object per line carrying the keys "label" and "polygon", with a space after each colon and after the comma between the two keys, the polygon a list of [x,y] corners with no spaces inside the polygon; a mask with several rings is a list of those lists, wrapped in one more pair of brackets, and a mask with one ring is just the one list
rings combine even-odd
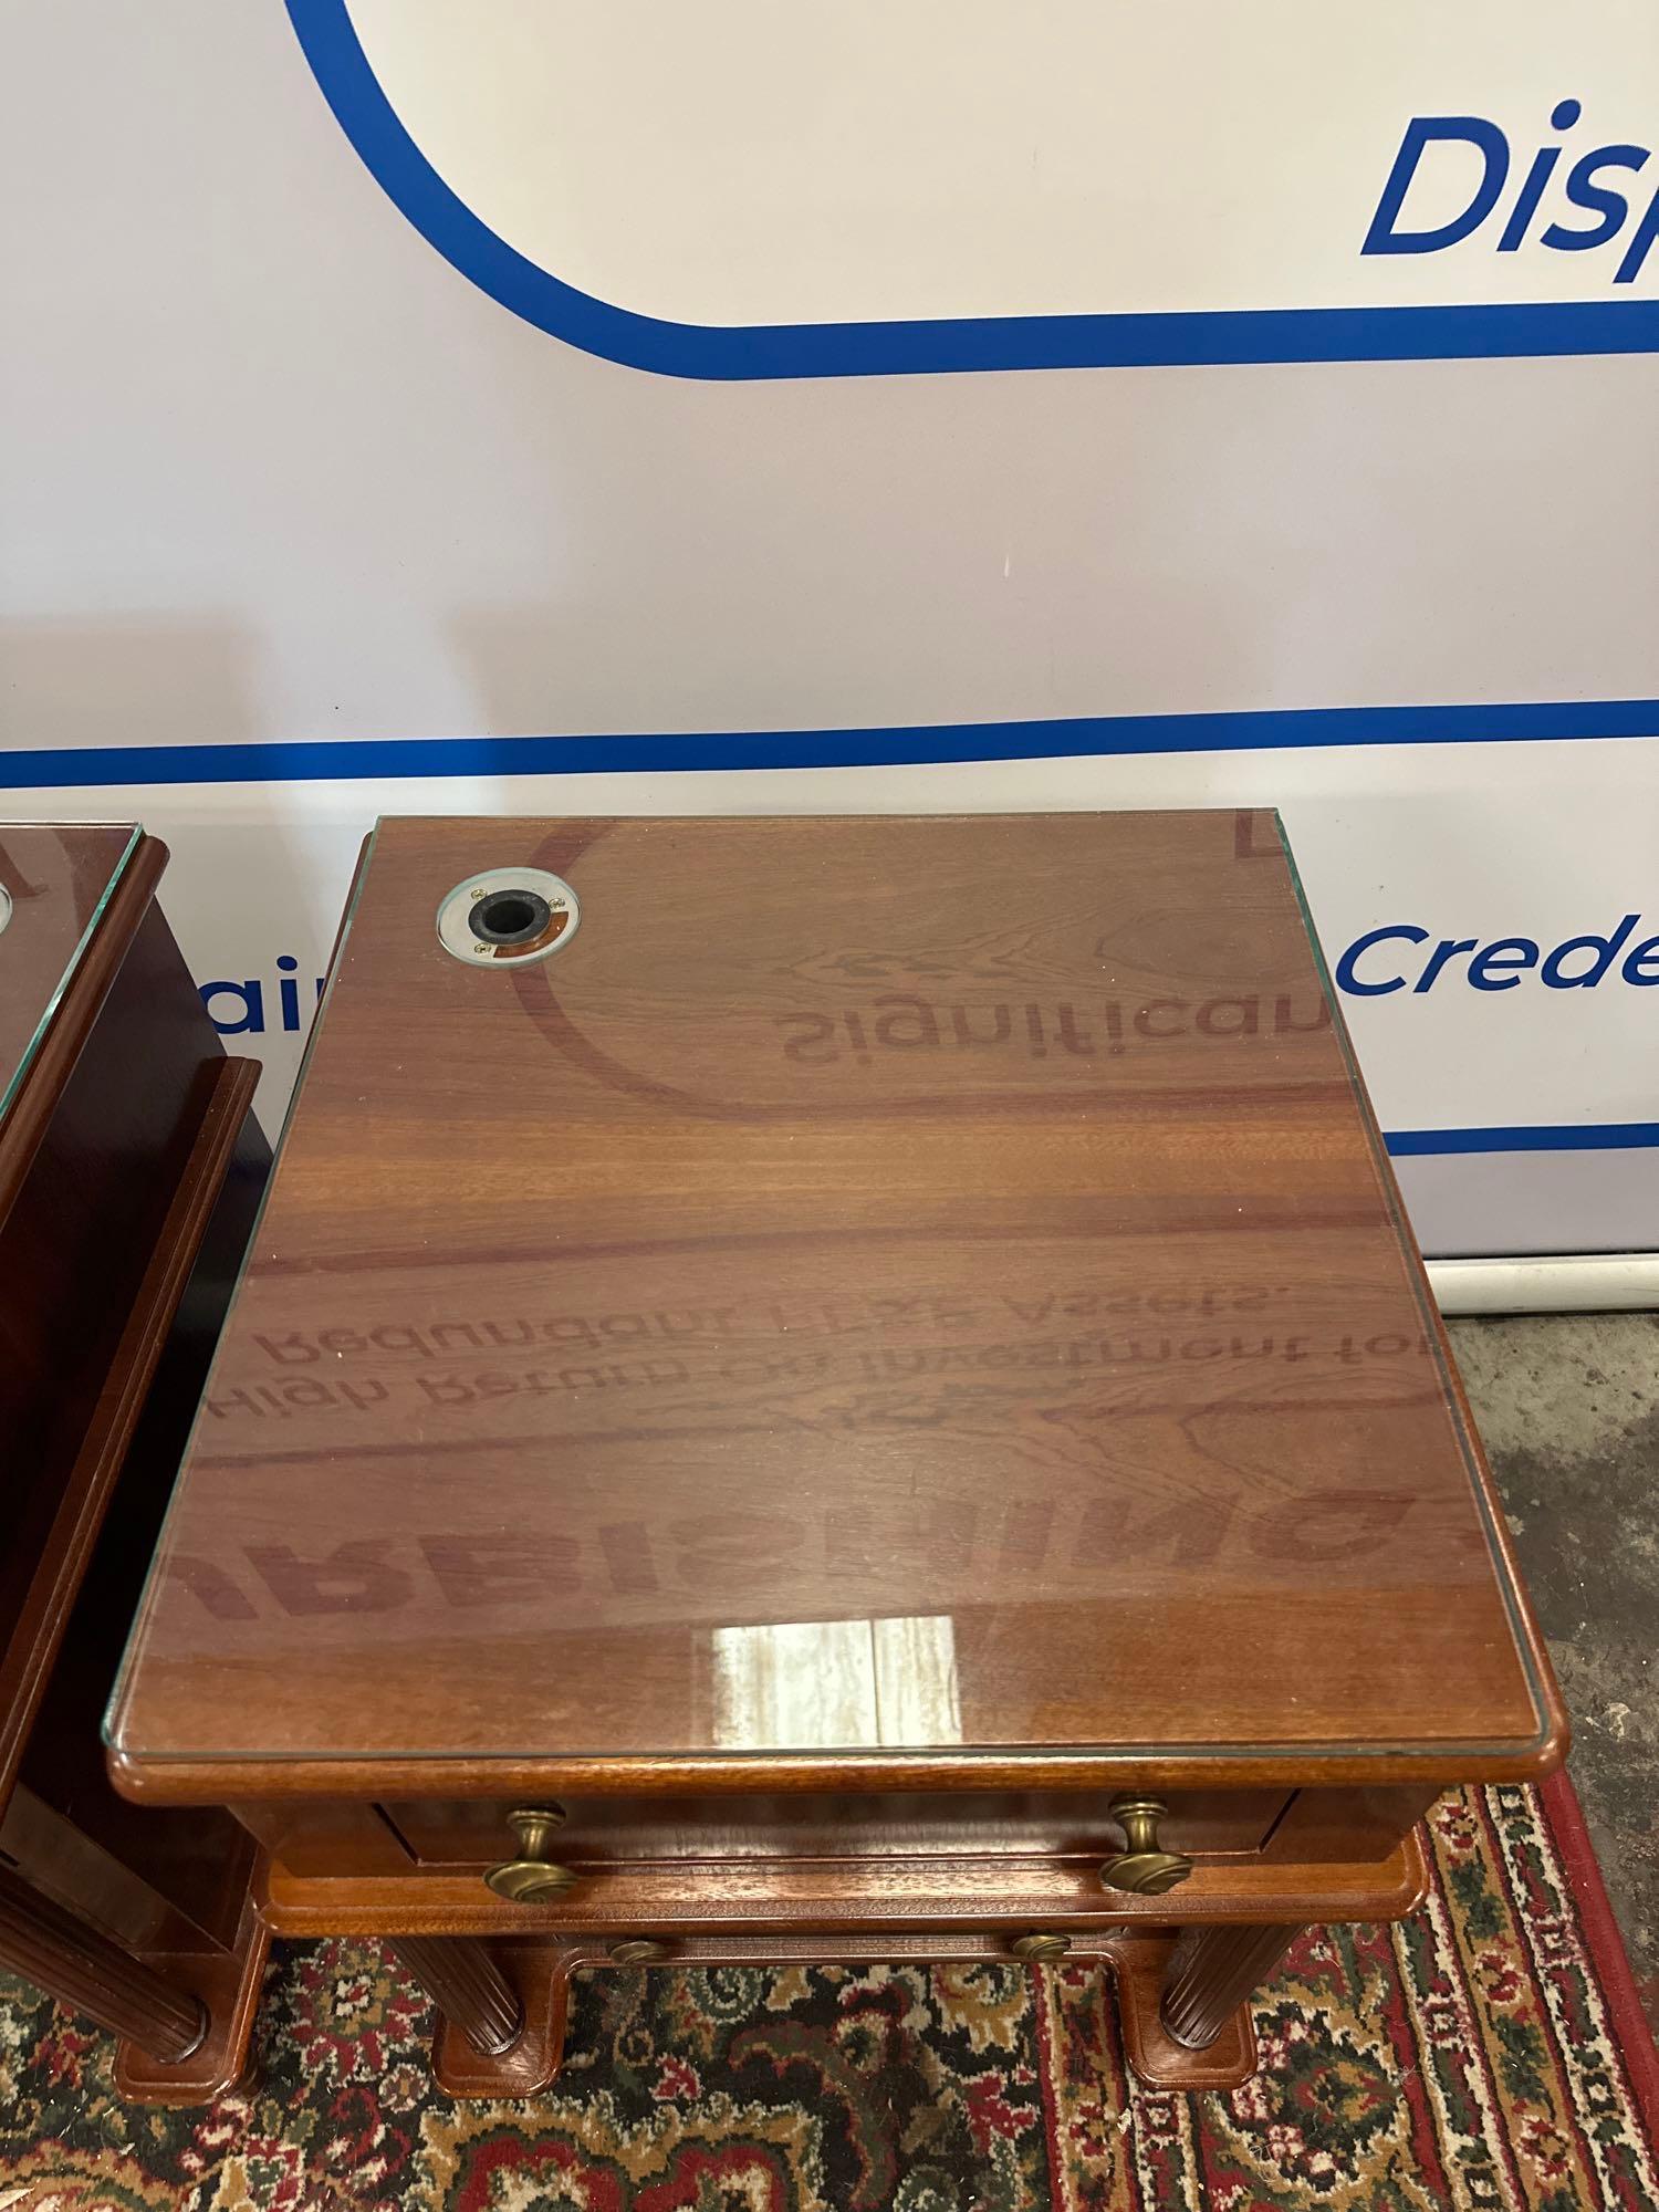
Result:
{"label": "straight blue stripe crossing the full banner just above the tabletops", "polygon": [[1237,714],[1079,714],[880,730],[708,730],[650,737],[343,737],[270,745],[86,745],[11,752],[0,787],[330,783],[349,776],[597,776],[717,768],[918,768],[1305,745],[1482,745],[1659,737],[1659,699],[1506,706],[1312,706]]}

